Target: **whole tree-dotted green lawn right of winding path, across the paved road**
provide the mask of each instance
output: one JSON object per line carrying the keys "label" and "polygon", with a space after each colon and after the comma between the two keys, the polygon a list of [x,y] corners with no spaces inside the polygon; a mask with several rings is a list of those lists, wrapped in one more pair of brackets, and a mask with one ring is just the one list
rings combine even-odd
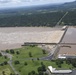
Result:
{"label": "whole tree-dotted green lawn right of winding path, across the paved road", "polygon": [[42,60],[48,52],[37,46],[24,46],[19,49],[6,50],[13,56],[12,65],[20,75],[48,75],[48,66],[57,69],[72,69],[76,67],[76,59]]}

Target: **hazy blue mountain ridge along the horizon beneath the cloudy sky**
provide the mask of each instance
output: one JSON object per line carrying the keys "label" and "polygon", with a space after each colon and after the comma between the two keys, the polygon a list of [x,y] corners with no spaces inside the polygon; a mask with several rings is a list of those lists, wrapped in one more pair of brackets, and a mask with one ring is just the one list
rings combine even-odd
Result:
{"label": "hazy blue mountain ridge along the horizon beneath the cloudy sky", "polygon": [[[66,2],[62,4],[48,4],[48,5],[40,5],[40,6],[32,6],[32,7],[18,7],[18,8],[10,8],[3,9],[0,12],[19,12],[19,11],[30,11],[30,10],[70,10],[72,8],[76,8],[76,1]],[[6,11],[5,11],[6,10]]]}

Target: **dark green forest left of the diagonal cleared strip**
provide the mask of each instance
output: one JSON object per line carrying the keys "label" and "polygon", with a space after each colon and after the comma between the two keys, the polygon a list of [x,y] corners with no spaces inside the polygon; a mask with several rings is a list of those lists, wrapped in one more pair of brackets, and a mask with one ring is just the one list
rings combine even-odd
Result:
{"label": "dark green forest left of the diagonal cleared strip", "polygon": [[65,12],[20,14],[0,17],[0,27],[13,26],[55,26]]}

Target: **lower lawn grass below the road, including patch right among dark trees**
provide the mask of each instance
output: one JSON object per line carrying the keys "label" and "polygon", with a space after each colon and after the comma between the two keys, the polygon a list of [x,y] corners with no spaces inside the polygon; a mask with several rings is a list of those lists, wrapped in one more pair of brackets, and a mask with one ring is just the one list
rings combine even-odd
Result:
{"label": "lower lawn grass below the road, including patch right among dark trees", "polygon": [[[27,62],[27,65],[24,65],[24,62]],[[20,61],[20,64],[18,65],[14,65],[14,67],[16,68],[17,71],[20,71],[21,75],[28,75],[29,72],[31,71],[35,71],[36,73],[38,73],[37,68],[41,66],[41,62],[43,62],[43,64],[46,66],[46,68],[48,68],[48,66],[53,66],[54,68],[60,69],[55,62],[53,61],[45,61],[45,60],[24,60],[24,61]],[[65,62],[61,65],[62,69],[69,69],[72,68],[72,65],[68,65]]]}

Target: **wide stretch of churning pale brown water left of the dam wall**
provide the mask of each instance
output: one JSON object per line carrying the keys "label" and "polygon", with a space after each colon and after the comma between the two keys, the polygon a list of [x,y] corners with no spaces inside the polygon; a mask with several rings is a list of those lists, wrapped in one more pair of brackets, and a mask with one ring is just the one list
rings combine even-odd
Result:
{"label": "wide stretch of churning pale brown water left of the dam wall", "polygon": [[58,43],[63,33],[50,27],[0,28],[0,50],[19,48],[24,42]]}

